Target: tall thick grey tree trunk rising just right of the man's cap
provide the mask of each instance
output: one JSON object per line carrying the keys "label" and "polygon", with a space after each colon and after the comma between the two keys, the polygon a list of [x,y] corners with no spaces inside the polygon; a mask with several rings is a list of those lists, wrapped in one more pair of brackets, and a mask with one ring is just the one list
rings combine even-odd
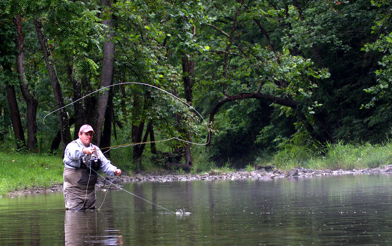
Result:
{"label": "tall thick grey tree trunk rising just right of the man's cap", "polygon": [[[110,0],[105,0],[103,2],[104,8],[107,7],[110,9]],[[109,86],[113,81],[113,66],[114,66],[114,52],[115,47],[114,43],[111,41],[113,38],[113,33],[110,31],[113,28],[113,19],[112,14],[105,13],[105,19],[102,21],[102,24],[107,26],[106,31],[109,30],[103,48],[103,60],[102,60],[102,72],[101,72],[101,81],[100,88]],[[104,124],[105,114],[103,112],[106,111],[107,102],[109,98],[109,90],[104,90],[99,94],[98,102],[97,102],[97,112],[98,118],[95,124],[95,140],[97,145],[100,145],[101,137],[102,137],[102,126]]]}

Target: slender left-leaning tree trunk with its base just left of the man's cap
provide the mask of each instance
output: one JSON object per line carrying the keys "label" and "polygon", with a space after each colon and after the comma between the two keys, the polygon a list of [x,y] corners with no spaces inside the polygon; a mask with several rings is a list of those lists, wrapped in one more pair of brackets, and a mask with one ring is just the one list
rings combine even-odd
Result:
{"label": "slender left-leaning tree trunk with its base just left of the man's cap", "polygon": [[58,81],[57,72],[54,67],[54,59],[52,56],[52,51],[48,44],[48,38],[44,35],[44,28],[42,26],[42,23],[41,21],[38,21],[35,18],[33,18],[33,21],[35,25],[35,30],[38,35],[38,40],[41,45],[42,52],[44,53],[44,58],[46,62],[46,67],[48,69],[49,78],[52,83],[54,100],[56,102],[57,108],[58,109],[61,108],[58,111],[58,119],[60,123],[60,131],[61,131],[61,145],[64,152],[67,144],[71,142],[71,132],[68,123],[68,116],[66,110],[63,108],[65,106],[64,98],[61,92],[60,83]]}

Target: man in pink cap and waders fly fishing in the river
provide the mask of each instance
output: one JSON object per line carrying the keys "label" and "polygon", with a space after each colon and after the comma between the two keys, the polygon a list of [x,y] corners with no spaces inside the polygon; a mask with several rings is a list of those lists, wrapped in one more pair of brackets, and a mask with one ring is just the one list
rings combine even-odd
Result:
{"label": "man in pink cap and waders fly fishing in the river", "polygon": [[64,201],[67,210],[95,209],[95,184],[98,170],[108,175],[121,175],[100,149],[91,144],[93,127],[80,127],[79,138],[67,145],[64,152]]}

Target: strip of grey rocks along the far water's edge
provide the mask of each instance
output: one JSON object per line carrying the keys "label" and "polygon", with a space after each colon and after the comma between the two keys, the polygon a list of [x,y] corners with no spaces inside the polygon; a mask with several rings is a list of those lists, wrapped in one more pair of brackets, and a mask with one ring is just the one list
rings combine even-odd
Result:
{"label": "strip of grey rocks along the far water's edge", "polygon": [[[220,172],[212,170],[202,174],[178,174],[174,171],[160,171],[156,173],[136,171],[131,175],[121,175],[120,177],[107,176],[105,178],[99,177],[96,189],[105,189],[110,183],[121,184],[130,182],[173,182],[173,181],[193,181],[193,180],[219,180],[219,179],[273,179],[273,178],[301,178],[313,177],[323,175],[343,175],[343,174],[360,174],[360,173],[386,173],[392,174],[392,165],[383,168],[363,169],[363,170],[313,170],[305,168],[294,168],[290,171],[283,172],[275,169],[273,166],[257,167],[253,172],[245,170],[238,170],[235,172]],[[114,179],[114,180],[113,180]],[[111,186],[113,187],[113,186]],[[33,187],[26,190],[18,190],[10,192],[9,197],[16,197],[21,195],[30,195],[38,193],[62,192],[63,185],[56,184],[49,188]]]}

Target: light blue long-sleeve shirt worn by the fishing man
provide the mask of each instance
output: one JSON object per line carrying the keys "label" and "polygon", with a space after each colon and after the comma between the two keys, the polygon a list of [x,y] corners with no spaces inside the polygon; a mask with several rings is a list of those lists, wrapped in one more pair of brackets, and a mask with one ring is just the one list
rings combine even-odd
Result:
{"label": "light blue long-sleeve shirt worn by the fishing man", "polygon": [[[89,144],[88,147],[94,147],[96,149],[95,153],[98,154],[98,158],[101,160],[101,170],[107,175],[115,175],[113,171],[116,170],[117,167],[113,166],[110,161],[106,159],[100,148],[93,144]],[[72,141],[67,145],[63,159],[65,168],[80,168],[80,157],[84,155],[83,148],[86,147],[80,142],[80,139]]]}

